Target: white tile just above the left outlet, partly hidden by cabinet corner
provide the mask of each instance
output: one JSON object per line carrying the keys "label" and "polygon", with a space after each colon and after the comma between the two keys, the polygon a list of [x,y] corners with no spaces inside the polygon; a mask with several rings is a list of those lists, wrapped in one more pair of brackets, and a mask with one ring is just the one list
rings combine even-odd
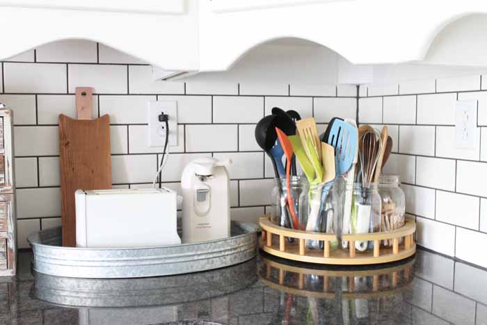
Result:
{"label": "white tile just above the left outlet, partly hidden by cabinet corner", "polygon": [[184,94],[184,82],[154,80],[150,65],[130,65],[129,93]]}

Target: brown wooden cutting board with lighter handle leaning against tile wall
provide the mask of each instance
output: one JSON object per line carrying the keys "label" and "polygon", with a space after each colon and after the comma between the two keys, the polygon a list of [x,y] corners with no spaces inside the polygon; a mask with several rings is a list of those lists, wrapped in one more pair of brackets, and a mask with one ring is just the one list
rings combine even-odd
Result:
{"label": "brown wooden cutting board with lighter handle leaning against tile wall", "polygon": [[76,88],[78,119],[59,116],[63,246],[76,246],[77,189],[111,189],[110,116],[95,120],[93,88]]}

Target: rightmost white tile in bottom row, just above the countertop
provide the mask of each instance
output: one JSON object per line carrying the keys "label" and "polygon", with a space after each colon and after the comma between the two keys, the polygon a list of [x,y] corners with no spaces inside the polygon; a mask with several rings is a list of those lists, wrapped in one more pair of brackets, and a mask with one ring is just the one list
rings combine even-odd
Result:
{"label": "rightmost white tile in bottom row, just above the countertop", "polygon": [[487,234],[463,228],[456,228],[456,257],[465,262],[487,267],[487,255],[479,249],[487,246]]}

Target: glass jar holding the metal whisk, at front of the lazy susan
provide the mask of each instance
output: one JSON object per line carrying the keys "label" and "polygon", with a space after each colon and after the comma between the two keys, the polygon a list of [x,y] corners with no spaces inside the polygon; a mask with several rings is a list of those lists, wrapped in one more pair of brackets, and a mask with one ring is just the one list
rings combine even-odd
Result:
{"label": "glass jar holding the metal whisk, at front of the lazy susan", "polygon": [[[381,231],[381,196],[377,190],[377,183],[363,187],[362,183],[349,184],[342,193],[340,200],[342,234],[363,234]],[[373,242],[356,241],[358,251],[372,248]],[[348,248],[348,243],[342,241],[342,247]]]}

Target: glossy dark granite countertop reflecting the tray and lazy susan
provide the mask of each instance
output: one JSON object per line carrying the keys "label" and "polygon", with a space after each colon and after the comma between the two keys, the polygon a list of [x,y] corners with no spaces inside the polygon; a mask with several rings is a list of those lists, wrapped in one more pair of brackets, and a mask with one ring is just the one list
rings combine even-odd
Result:
{"label": "glossy dark granite countertop reflecting the tray and lazy susan", "polygon": [[[317,267],[260,253],[143,279],[56,278],[19,253],[0,279],[0,324],[487,324],[487,271],[418,251],[379,267]],[[49,301],[49,302],[47,302]]]}

